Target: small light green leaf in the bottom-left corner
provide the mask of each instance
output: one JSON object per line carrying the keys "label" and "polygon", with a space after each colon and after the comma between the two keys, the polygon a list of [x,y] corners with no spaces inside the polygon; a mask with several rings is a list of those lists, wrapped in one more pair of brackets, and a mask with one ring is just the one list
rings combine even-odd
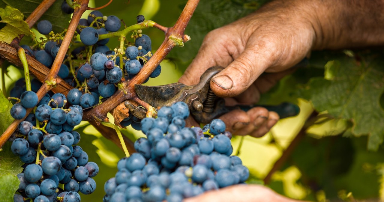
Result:
{"label": "small light green leaf in the bottom-left corner", "polygon": [[19,179],[15,175],[0,176],[1,201],[13,202],[13,195],[15,195],[19,184]]}

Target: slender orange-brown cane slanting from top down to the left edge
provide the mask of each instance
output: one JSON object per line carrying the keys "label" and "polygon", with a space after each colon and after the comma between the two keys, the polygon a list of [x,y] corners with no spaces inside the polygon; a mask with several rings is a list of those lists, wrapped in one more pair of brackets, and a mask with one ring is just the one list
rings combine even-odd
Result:
{"label": "slender orange-brown cane slanting from top down to the left edge", "polygon": [[[68,50],[68,47],[71,43],[74,31],[76,30],[76,27],[79,23],[81,15],[83,15],[84,11],[86,11],[86,8],[88,8],[88,2],[89,2],[89,0],[81,0],[81,1],[79,1],[79,3],[81,3],[81,6],[76,7],[74,9],[70,25],[68,26],[68,31],[64,36],[63,42],[61,43],[61,46],[60,46],[58,54],[55,58],[55,61],[53,61],[51,70],[48,73],[48,76],[46,77],[46,82],[43,83],[43,85],[40,87],[40,89],[36,93],[39,101],[41,100],[41,98],[43,98],[43,96],[49,90],[51,90],[56,84],[58,84],[61,81],[60,79],[56,79],[57,73],[60,69],[61,63],[63,62],[66,51]],[[3,135],[0,136],[0,148],[5,144],[5,142],[8,140],[8,138],[16,130],[18,124],[20,122],[22,122],[26,118],[26,116],[28,116],[28,114],[31,113],[31,111],[32,111],[32,108],[27,109],[27,112],[26,112],[26,115],[24,118],[19,119],[19,120],[14,120],[10,124],[10,126],[8,126],[7,130],[5,130]]]}

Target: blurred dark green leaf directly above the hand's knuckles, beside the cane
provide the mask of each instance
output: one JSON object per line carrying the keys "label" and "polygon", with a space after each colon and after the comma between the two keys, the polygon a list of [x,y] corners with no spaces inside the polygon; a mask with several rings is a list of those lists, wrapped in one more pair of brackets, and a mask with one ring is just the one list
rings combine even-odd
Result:
{"label": "blurred dark green leaf directly above the hand's knuckles, beside the cane", "polygon": [[265,2],[266,0],[200,1],[184,32],[191,37],[191,41],[184,47],[175,47],[168,57],[181,62],[190,61],[197,54],[205,34],[255,11]]}

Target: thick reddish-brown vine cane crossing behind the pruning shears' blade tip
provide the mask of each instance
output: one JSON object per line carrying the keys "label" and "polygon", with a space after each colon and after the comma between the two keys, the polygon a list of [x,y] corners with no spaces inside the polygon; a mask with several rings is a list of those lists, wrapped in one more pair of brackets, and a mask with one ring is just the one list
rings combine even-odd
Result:
{"label": "thick reddish-brown vine cane crossing behind the pruning shears' blade tip", "polygon": [[160,62],[166,57],[166,55],[174,46],[182,46],[184,42],[189,40],[189,37],[184,35],[184,30],[190,18],[192,17],[192,14],[195,11],[198,3],[199,0],[188,0],[182,13],[179,16],[179,19],[177,19],[173,27],[165,28],[163,26],[157,26],[157,28],[159,28],[160,30],[166,31],[165,39],[159,49],[157,49],[156,53],[144,65],[141,71],[131,80],[123,82],[124,89],[127,93],[124,94],[122,90],[118,90],[118,92],[116,92],[109,99],[105,100],[101,105],[98,105],[93,109],[84,112],[84,120],[108,122],[108,117],[106,116],[108,112],[113,110],[120,103],[124,102],[124,100],[137,97],[134,90],[135,84],[142,84],[156,69],[156,67],[160,64]]}

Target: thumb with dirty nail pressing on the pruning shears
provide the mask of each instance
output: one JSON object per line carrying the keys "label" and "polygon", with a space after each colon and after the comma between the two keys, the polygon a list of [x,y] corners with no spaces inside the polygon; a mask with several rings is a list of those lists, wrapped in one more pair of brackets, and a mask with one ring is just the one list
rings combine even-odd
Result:
{"label": "thumb with dirty nail pressing on the pruning shears", "polygon": [[276,54],[271,50],[267,51],[266,48],[260,50],[257,44],[250,45],[223,71],[212,78],[210,87],[219,97],[239,95],[274,61],[276,61]]}

